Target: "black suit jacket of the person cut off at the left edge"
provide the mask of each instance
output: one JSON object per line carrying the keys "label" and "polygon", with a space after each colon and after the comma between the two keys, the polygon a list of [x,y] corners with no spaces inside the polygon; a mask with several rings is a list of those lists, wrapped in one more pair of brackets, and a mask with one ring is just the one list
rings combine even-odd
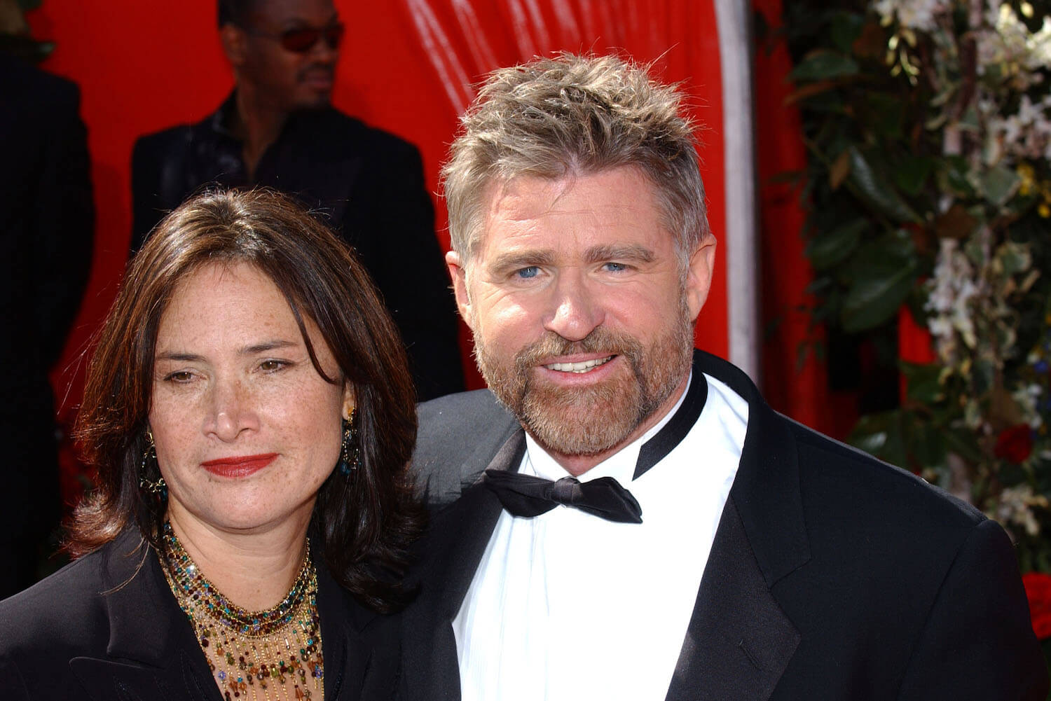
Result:
{"label": "black suit jacket of the person cut off at the left edge", "polygon": [[0,104],[2,598],[37,580],[61,515],[47,372],[87,283],[95,205],[77,85],[0,53]]}

